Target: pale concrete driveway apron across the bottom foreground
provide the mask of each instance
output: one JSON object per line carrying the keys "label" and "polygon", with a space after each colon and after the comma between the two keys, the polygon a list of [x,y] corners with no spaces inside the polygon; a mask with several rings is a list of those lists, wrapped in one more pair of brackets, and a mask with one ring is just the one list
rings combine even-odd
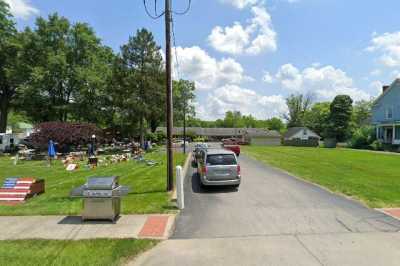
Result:
{"label": "pale concrete driveway apron across the bottom foreground", "polygon": [[398,266],[399,233],[169,239],[128,265]]}

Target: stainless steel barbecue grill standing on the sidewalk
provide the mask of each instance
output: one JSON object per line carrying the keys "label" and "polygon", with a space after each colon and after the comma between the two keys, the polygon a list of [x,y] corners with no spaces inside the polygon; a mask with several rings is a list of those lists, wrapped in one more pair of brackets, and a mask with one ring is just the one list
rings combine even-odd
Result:
{"label": "stainless steel barbecue grill standing on the sidewalk", "polygon": [[129,188],[119,185],[118,176],[90,177],[86,184],[71,191],[71,197],[83,198],[83,220],[111,220],[119,216],[121,197]]}

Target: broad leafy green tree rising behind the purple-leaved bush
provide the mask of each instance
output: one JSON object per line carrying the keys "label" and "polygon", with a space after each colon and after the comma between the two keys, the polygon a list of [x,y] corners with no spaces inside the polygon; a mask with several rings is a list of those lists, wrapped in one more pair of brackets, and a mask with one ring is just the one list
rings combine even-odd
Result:
{"label": "broad leafy green tree rising behind the purple-leaved bush", "polygon": [[[35,122],[99,122],[112,51],[84,23],[52,14],[27,29],[31,80],[21,106]],[[40,106],[40,108],[38,108]]]}

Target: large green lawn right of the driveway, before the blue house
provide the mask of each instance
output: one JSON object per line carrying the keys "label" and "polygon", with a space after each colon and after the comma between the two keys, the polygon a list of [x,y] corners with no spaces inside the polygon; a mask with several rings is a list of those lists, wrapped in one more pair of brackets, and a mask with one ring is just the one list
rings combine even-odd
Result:
{"label": "large green lawn right of the driveway, before the blue house", "polygon": [[243,147],[245,154],[370,207],[400,207],[400,156],[351,149]]}

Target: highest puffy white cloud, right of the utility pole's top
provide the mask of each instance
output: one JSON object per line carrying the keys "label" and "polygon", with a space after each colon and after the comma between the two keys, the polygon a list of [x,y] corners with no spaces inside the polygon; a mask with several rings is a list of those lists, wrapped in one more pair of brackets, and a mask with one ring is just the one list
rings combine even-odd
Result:
{"label": "highest puffy white cloud, right of the utility pole's top", "polygon": [[277,34],[273,29],[271,16],[260,6],[251,8],[253,18],[248,25],[235,22],[233,26],[216,26],[208,36],[211,46],[220,52],[231,54],[257,55],[277,50]]}

